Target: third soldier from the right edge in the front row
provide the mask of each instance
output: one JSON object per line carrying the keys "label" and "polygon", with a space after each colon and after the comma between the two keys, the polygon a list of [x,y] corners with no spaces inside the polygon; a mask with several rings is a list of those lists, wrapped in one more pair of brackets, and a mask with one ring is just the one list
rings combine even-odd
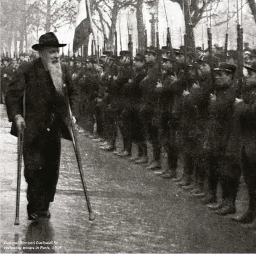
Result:
{"label": "third soldier from the right edge in the front row", "polygon": [[[218,61],[212,58],[214,66]],[[189,94],[184,99],[183,114],[183,138],[185,139],[185,156],[191,159],[190,177],[195,171],[195,185],[192,185],[194,196],[204,196],[204,175],[207,167],[207,154],[204,153],[204,130],[209,117],[208,107],[210,93],[212,92],[212,78],[210,61],[207,56],[198,59],[198,79],[194,81],[189,89]],[[186,161],[186,159],[185,159]]]}

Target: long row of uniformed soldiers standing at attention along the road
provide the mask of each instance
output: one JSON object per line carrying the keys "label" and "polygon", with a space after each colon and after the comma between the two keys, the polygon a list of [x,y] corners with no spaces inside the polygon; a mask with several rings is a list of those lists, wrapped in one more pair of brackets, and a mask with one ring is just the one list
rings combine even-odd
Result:
{"label": "long row of uniformed soldiers standing at attention along the road", "polygon": [[[129,50],[118,57],[106,51],[101,56],[103,70],[96,58],[87,59],[86,68],[73,74],[80,89],[80,124],[86,122],[86,132],[81,127],[79,132],[94,138],[101,149],[136,164],[148,163],[150,142],[150,170],[161,169],[161,150],[165,150],[168,167],[158,173],[189,189],[219,215],[236,212],[243,171],[249,207],[234,219],[252,222],[256,216],[256,64],[244,65],[240,87],[238,67],[229,60],[227,56],[195,58],[184,47],[171,51],[148,47],[133,59]],[[95,122],[97,133],[92,135]],[[118,128],[123,139],[120,152],[116,151]],[[132,144],[138,146],[136,156]],[[181,157],[184,170],[178,178]]]}

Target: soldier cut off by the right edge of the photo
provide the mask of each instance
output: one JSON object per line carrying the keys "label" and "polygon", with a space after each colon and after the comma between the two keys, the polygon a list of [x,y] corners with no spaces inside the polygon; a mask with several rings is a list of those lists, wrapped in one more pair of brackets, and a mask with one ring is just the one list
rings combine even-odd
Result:
{"label": "soldier cut off by the right edge of the photo", "polygon": [[[241,88],[243,99],[235,100],[234,117],[240,125],[238,142],[233,144],[241,151],[243,176],[249,192],[249,207],[241,217],[234,218],[241,223],[250,223],[256,218],[256,63],[252,67],[244,66],[245,82]],[[239,128],[238,127],[238,128]],[[241,149],[240,149],[241,148]],[[231,198],[235,201],[240,180],[240,163],[231,158],[226,171],[226,184],[231,189]],[[231,162],[231,161],[229,161]],[[236,163],[235,163],[236,162]]]}

